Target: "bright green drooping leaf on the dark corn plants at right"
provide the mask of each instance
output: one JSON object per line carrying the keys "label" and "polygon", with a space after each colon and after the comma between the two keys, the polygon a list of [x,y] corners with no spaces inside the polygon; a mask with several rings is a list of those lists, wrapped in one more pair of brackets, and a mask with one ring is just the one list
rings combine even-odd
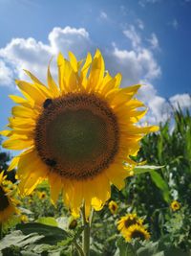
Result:
{"label": "bright green drooping leaf on the dark corn plants at right", "polygon": [[161,175],[159,175],[159,173],[155,171],[150,172],[150,175],[152,180],[156,184],[156,186],[160,189],[164,200],[167,203],[169,203],[171,201],[171,198],[170,198],[170,192],[168,189],[168,184],[166,183],[166,181],[162,178]]}

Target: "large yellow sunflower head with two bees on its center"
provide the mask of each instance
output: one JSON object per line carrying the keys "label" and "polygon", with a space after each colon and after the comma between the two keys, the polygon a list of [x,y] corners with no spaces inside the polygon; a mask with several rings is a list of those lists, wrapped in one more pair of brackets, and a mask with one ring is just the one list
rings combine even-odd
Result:
{"label": "large yellow sunflower head with two bees on its center", "polygon": [[130,155],[136,155],[144,134],[156,127],[136,127],[145,114],[144,106],[134,99],[140,85],[119,88],[120,74],[111,77],[97,50],[77,61],[58,55],[58,85],[48,67],[48,85],[29,71],[32,83],[16,81],[25,98],[12,96],[9,137],[3,146],[25,150],[13,158],[10,170],[17,166],[20,191],[29,195],[48,178],[51,196],[60,191],[74,214],[85,203],[86,216],[91,206],[101,209],[110,198],[110,185],[118,189],[131,175]]}

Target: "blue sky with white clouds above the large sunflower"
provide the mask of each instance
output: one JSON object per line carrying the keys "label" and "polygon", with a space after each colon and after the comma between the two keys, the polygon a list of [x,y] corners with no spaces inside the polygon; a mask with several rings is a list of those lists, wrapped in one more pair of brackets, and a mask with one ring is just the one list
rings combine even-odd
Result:
{"label": "blue sky with white clouds above the large sunflower", "polygon": [[19,94],[13,79],[26,79],[26,68],[45,80],[59,51],[84,58],[99,48],[122,86],[147,84],[138,97],[151,123],[167,118],[169,103],[190,107],[190,13],[189,0],[0,0],[0,129],[11,112],[8,95]]}

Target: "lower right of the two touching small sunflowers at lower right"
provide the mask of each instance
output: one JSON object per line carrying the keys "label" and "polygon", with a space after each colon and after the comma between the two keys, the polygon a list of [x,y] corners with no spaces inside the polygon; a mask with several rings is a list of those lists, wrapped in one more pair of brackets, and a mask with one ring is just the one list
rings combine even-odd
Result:
{"label": "lower right of the two touching small sunflowers at lower right", "polygon": [[131,225],[123,236],[127,242],[131,242],[132,239],[144,241],[149,240],[150,238],[149,232],[143,226],[138,224]]}

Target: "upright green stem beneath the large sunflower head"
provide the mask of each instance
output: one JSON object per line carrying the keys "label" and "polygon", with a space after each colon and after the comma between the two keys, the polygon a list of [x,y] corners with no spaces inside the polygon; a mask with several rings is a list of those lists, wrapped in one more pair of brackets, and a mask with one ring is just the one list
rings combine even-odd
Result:
{"label": "upright green stem beneath the large sunflower head", "polygon": [[85,214],[85,202],[82,207],[82,217],[83,217],[83,252],[84,256],[90,256],[90,222],[86,221],[86,214]]}

